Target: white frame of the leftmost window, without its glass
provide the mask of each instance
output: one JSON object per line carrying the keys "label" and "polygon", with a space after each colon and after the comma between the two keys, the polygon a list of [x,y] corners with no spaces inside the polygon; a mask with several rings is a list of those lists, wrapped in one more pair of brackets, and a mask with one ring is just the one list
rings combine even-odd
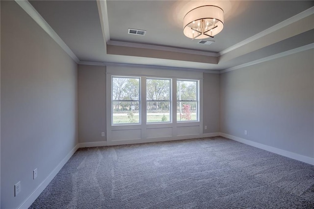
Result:
{"label": "white frame of the leftmost window, without its glass", "polygon": [[[136,78],[138,79],[138,100],[113,100],[113,78]],[[142,109],[142,105],[141,105],[141,77],[140,76],[114,76],[111,75],[111,87],[110,87],[110,100],[111,100],[111,126],[132,126],[132,125],[141,125],[141,109]],[[113,103],[114,102],[138,102],[138,119],[139,122],[138,123],[113,123]]]}

